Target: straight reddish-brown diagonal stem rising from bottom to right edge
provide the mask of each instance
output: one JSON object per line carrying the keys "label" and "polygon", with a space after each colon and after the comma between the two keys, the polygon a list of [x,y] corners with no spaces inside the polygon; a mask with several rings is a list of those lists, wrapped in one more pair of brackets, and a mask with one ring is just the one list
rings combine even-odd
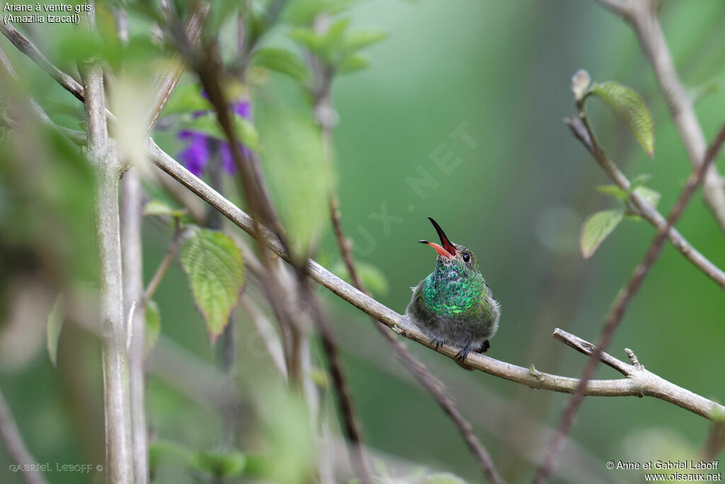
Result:
{"label": "straight reddish-brown diagonal stem rising from bottom to right edge", "polygon": [[564,409],[564,413],[559,423],[558,432],[551,440],[547,455],[544,457],[544,462],[541,467],[539,467],[536,477],[534,477],[534,483],[544,483],[549,478],[551,469],[561,452],[564,438],[571,429],[574,417],[576,417],[576,413],[581,407],[581,402],[584,401],[584,392],[587,382],[589,382],[589,380],[591,380],[594,376],[594,372],[597,369],[597,363],[599,362],[602,353],[604,353],[604,350],[611,343],[614,337],[614,332],[616,332],[619,323],[624,317],[624,313],[629,306],[629,302],[637,293],[637,290],[639,290],[639,287],[645,280],[650,268],[660,255],[665,243],[665,238],[667,237],[667,232],[672,226],[674,226],[676,221],[679,220],[680,216],[682,216],[684,208],[687,206],[687,203],[692,200],[692,195],[695,194],[697,186],[699,186],[705,178],[705,173],[708,172],[708,168],[711,167],[713,160],[715,160],[715,157],[724,142],[725,124],[720,128],[715,140],[710,147],[708,147],[707,152],[705,152],[705,159],[703,162],[700,163],[700,165],[697,166],[697,169],[688,177],[687,183],[685,184],[684,189],[682,189],[682,193],[667,217],[666,226],[658,231],[657,235],[650,243],[650,247],[645,254],[645,258],[643,258],[637,265],[637,268],[634,269],[634,274],[632,274],[629,282],[626,284],[626,287],[624,287],[624,289],[617,295],[614,307],[607,317],[607,321],[602,329],[599,340],[597,340],[597,348],[595,348],[592,355],[589,356],[589,361],[587,361],[587,366],[584,367],[584,372],[581,374],[581,380],[579,380],[576,391],[569,399],[566,409]]}

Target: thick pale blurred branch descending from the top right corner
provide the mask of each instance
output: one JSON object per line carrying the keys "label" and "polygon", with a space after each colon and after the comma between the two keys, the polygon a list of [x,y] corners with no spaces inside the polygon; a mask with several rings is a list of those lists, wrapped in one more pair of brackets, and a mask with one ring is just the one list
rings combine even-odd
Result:
{"label": "thick pale blurred branch descending from the top right corner", "polygon": [[[612,1],[597,1],[608,8],[612,3]],[[619,15],[624,17],[637,34],[639,46],[652,64],[655,78],[682,144],[687,150],[689,161],[693,168],[697,168],[705,158],[707,141],[700,121],[697,120],[694,103],[677,75],[674,60],[657,18],[659,4],[658,0],[628,1],[626,8],[623,8]],[[703,194],[718,225],[725,231],[725,182],[715,165],[712,165],[705,174]]]}

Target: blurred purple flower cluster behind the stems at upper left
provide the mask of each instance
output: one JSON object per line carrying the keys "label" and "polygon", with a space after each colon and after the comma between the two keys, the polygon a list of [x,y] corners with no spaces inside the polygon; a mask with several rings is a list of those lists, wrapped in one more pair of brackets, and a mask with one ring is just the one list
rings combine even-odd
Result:
{"label": "blurred purple flower cluster behind the stems at upper left", "polygon": [[[202,91],[202,96],[209,99],[205,91]],[[252,103],[249,102],[249,99],[233,101],[229,104],[229,108],[232,112],[245,119],[249,119],[252,115]],[[197,111],[192,114],[192,117],[199,118],[204,114],[207,114],[207,112]],[[190,130],[179,131],[178,139],[188,141],[186,147],[178,153],[179,159],[188,171],[194,173],[195,176],[202,176],[204,168],[206,168],[207,162],[212,155],[212,147],[215,146],[213,141],[217,140],[206,134]],[[244,155],[249,155],[247,147],[240,144],[240,148]],[[218,152],[223,170],[230,175],[236,173],[236,164],[232,157],[231,146],[226,141],[218,141]]]}

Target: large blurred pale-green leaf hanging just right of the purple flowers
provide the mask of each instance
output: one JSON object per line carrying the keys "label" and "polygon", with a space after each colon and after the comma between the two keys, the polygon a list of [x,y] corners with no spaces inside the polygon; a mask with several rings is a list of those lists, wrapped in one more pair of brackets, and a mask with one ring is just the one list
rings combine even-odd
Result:
{"label": "large blurred pale-green leaf hanging just right of the purple flowers", "polygon": [[320,128],[309,111],[295,110],[264,91],[254,99],[254,112],[266,178],[279,197],[296,255],[305,255],[321,223],[327,221],[328,195],[336,178]]}

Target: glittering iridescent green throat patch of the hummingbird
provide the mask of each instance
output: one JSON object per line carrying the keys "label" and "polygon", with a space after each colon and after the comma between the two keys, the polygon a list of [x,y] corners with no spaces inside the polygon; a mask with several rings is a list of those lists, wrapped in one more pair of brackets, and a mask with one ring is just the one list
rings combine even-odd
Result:
{"label": "glittering iridescent green throat patch of the hummingbird", "polygon": [[457,258],[451,261],[439,258],[436,269],[423,284],[423,299],[431,311],[460,318],[484,309],[487,290],[477,265],[470,267]]}

